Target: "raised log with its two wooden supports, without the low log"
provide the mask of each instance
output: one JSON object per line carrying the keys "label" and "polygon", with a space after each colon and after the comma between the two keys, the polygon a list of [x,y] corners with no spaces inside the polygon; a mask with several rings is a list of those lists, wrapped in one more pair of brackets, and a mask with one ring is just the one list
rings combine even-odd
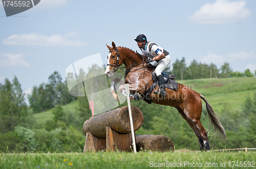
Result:
{"label": "raised log with its two wooden supports, without the low log", "polygon": [[[134,130],[143,123],[142,111],[131,106]],[[116,108],[94,116],[84,122],[85,151],[131,151],[132,134],[128,106]]]}

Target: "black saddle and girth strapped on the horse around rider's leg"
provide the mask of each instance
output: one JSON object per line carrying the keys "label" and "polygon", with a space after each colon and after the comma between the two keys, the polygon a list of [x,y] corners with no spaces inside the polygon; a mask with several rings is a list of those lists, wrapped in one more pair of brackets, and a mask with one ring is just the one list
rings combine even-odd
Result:
{"label": "black saddle and girth strapped on the horse around rider's leg", "polygon": [[[162,72],[162,75],[164,78],[164,87],[167,89],[172,89],[174,91],[177,91],[178,82],[174,80],[176,75],[168,75],[168,74],[165,74],[164,72]],[[140,96],[142,97],[142,100],[144,100],[148,104],[152,103],[151,99],[148,96],[156,88],[156,86],[158,86],[158,80],[157,80],[157,75],[155,73],[155,69],[152,71],[152,79],[153,79],[153,84],[150,86],[150,88],[144,94],[140,94]],[[134,94],[134,98],[135,100],[137,100],[136,98],[139,99],[139,96],[137,93]]]}

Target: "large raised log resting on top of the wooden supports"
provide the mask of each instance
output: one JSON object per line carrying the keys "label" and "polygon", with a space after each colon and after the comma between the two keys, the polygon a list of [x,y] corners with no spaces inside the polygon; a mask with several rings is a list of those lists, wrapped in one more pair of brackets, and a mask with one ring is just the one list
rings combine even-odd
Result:
{"label": "large raised log resting on top of the wooden supports", "polygon": [[[143,123],[142,111],[136,106],[131,106],[131,110],[134,130],[138,130]],[[83,132],[84,134],[90,132],[94,136],[105,138],[106,127],[111,127],[118,133],[131,132],[128,106],[116,108],[90,118],[84,122]]]}

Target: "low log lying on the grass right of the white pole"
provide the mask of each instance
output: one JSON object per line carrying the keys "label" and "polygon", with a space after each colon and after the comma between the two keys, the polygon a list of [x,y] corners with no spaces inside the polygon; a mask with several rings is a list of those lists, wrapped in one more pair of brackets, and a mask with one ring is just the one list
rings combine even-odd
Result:
{"label": "low log lying on the grass right of the white pole", "polygon": [[137,151],[174,151],[172,140],[164,135],[136,135]]}

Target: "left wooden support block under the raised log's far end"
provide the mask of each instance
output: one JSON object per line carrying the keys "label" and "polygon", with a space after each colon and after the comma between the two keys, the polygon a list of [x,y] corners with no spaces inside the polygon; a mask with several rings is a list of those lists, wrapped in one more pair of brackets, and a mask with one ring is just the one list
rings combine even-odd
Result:
{"label": "left wooden support block under the raised log's far end", "polygon": [[101,151],[106,149],[106,139],[98,138],[91,133],[86,133],[86,142],[84,143],[83,152],[86,151]]}

